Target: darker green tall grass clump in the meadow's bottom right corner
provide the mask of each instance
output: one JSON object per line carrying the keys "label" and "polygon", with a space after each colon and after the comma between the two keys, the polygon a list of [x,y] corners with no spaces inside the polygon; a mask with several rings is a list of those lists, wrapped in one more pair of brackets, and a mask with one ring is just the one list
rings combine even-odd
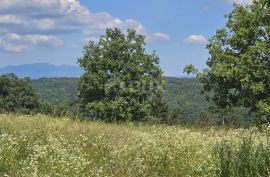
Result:
{"label": "darker green tall grass clump in the meadow's bottom right corner", "polygon": [[216,153],[217,176],[270,176],[268,141],[256,144],[252,137],[243,137],[238,147],[225,141],[216,146]]}

